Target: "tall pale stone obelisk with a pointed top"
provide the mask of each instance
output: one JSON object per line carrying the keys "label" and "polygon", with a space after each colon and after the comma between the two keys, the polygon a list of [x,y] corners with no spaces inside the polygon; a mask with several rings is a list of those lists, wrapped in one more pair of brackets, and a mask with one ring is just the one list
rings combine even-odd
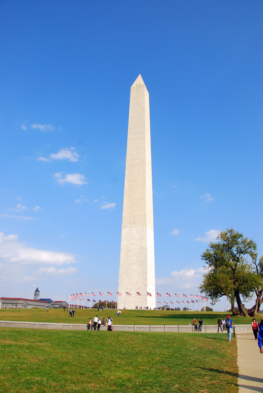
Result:
{"label": "tall pale stone obelisk with a pointed top", "polygon": [[120,309],[155,307],[150,107],[141,74],[130,95],[118,291]]}

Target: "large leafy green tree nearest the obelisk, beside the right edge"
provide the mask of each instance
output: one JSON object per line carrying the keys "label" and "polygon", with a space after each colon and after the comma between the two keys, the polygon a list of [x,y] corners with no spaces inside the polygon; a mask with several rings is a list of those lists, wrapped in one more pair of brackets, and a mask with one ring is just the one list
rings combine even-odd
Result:
{"label": "large leafy green tree nearest the obelisk, beside the right edge", "polygon": [[225,295],[231,302],[233,313],[236,299],[240,314],[248,316],[241,296],[244,300],[251,299],[255,288],[260,287],[260,277],[253,266],[257,260],[256,242],[233,228],[227,228],[219,233],[217,242],[210,242],[201,259],[205,261],[204,267],[208,268],[208,272],[200,290],[205,292],[212,304]]}

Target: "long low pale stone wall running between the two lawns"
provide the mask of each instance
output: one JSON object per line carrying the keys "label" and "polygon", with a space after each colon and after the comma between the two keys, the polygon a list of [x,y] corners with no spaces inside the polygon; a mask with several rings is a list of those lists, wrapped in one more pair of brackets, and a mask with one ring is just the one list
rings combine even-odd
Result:
{"label": "long low pale stone wall running between the two lawns", "polygon": [[[16,327],[23,329],[56,329],[56,330],[88,330],[88,325],[82,323],[49,323],[49,322],[22,322],[0,321],[0,327]],[[93,328],[93,325],[91,325]],[[107,326],[100,327],[107,331]],[[235,331],[251,330],[251,325],[235,325]],[[192,325],[113,325],[113,331],[119,332],[161,332],[161,333],[193,333]],[[216,333],[217,325],[203,325],[203,333]]]}

